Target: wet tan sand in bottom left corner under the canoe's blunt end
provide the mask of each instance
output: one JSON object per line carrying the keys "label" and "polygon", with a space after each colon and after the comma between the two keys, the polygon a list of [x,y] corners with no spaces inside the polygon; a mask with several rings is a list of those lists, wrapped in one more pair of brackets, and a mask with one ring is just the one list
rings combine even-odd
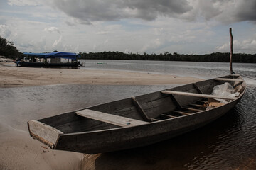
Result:
{"label": "wet tan sand in bottom left corner under the canoe's blunt end", "polygon": [[83,155],[51,150],[28,132],[0,123],[0,169],[81,169]]}

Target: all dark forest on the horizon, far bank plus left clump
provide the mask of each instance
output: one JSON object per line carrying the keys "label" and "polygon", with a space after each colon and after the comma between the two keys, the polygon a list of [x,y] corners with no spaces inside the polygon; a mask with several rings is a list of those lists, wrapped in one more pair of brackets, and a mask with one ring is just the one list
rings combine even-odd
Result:
{"label": "all dark forest on the horizon, far bank plus left clump", "polygon": [[[18,52],[13,42],[7,41],[0,36],[0,55],[12,59],[22,58],[23,54]],[[229,62],[230,53],[215,52],[206,55],[183,55],[174,52],[164,52],[164,54],[138,54],[124,52],[80,52],[80,59],[94,60],[164,60],[164,61],[188,61],[188,62]],[[233,54],[233,62],[256,63],[256,54]]]}

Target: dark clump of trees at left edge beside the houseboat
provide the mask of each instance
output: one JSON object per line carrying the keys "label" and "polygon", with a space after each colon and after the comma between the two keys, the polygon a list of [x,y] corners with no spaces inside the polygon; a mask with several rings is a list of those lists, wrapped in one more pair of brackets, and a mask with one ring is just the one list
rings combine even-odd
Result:
{"label": "dark clump of trees at left edge beside the houseboat", "polygon": [[14,47],[14,43],[7,41],[0,36],[0,55],[12,59],[20,58],[23,54],[18,52],[18,49]]}

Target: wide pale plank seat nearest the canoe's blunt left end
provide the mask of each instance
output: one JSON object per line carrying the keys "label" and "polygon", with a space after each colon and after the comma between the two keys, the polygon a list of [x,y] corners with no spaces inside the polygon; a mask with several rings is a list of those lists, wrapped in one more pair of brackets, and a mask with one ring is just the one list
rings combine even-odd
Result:
{"label": "wide pale plank seat nearest the canoe's blunt left end", "polygon": [[75,112],[77,115],[83,116],[85,118],[90,118],[94,120],[99,120],[105,123],[110,123],[113,125],[119,125],[122,127],[129,127],[134,125],[144,125],[147,124],[147,122],[144,122],[142,120],[136,120],[132,118],[125,118],[119,115],[112,115],[109,113],[103,113],[100,111],[93,111],[90,109],[85,109],[82,111]]}

